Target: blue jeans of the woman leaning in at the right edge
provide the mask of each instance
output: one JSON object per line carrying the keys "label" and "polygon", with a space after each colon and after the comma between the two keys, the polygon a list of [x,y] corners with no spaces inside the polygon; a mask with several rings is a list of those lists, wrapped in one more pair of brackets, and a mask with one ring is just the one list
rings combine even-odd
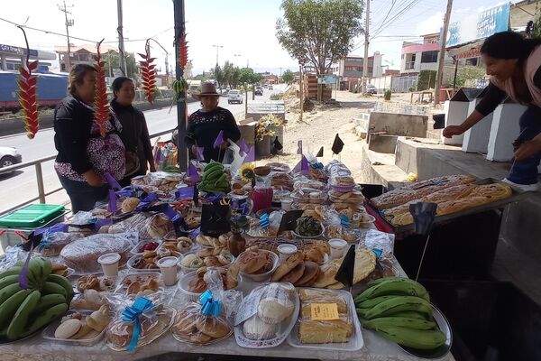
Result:
{"label": "blue jeans of the woman leaning in at the right edge", "polygon": [[[518,149],[520,144],[541,133],[541,108],[528,106],[526,112],[520,116],[518,124],[520,125],[520,134],[513,143],[515,150]],[[536,153],[523,161],[515,160],[509,171],[508,180],[517,184],[536,184],[539,161],[541,161],[541,153]]]}

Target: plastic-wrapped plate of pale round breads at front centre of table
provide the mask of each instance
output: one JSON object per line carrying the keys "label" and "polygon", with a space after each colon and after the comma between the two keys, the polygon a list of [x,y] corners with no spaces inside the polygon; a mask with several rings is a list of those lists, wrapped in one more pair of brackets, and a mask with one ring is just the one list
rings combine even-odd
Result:
{"label": "plastic-wrapped plate of pale round breads at front centre of table", "polygon": [[295,287],[272,282],[256,287],[235,316],[234,336],[242,347],[276,347],[289,335],[299,309]]}

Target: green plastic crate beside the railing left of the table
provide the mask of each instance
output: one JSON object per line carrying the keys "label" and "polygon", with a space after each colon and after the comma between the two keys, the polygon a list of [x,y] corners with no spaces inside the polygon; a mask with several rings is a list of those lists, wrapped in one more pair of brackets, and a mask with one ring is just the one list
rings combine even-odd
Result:
{"label": "green plastic crate beside the railing left of the table", "polygon": [[37,228],[64,213],[64,206],[58,204],[31,204],[0,218],[0,227]]}

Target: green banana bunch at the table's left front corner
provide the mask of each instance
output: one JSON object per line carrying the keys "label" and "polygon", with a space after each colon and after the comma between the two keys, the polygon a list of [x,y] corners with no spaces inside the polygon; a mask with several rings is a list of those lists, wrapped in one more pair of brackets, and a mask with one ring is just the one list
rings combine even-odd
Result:
{"label": "green banana bunch at the table's left front corner", "polygon": [[30,260],[27,289],[19,284],[23,265],[0,273],[0,336],[15,340],[31,335],[64,315],[74,292],[67,278],[51,273],[48,258]]}

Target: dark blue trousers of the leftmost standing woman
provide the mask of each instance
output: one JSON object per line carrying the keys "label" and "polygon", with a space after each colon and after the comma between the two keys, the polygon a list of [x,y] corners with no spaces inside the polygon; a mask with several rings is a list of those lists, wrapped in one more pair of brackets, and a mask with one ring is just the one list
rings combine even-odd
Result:
{"label": "dark blue trousers of the leftmost standing woman", "polygon": [[69,180],[59,175],[60,184],[68,192],[71,200],[71,211],[76,214],[79,210],[91,210],[99,200],[108,196],[106,186],[92,187],[86,181]]}

